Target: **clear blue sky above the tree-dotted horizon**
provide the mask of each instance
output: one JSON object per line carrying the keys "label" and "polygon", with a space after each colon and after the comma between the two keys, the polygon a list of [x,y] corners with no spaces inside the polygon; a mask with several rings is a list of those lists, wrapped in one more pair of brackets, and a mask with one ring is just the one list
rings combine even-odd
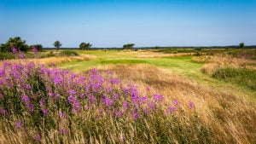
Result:
{"label": "clear blue sky above the tree-dotted horizon", "polygon": [[0,43],[256,44],[256,0],[0,0]]}

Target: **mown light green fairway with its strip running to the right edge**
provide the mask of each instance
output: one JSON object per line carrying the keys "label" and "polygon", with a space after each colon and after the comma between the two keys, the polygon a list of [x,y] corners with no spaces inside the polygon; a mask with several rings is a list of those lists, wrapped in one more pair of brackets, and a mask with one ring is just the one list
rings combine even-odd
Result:
{"label": "mown light green fairway with its strip running to the right edge", "polygon": [[[221,51],[221,50],[218,50]],[[211,84],[212,86],[226,87],[227,89],[241,89],[248,95],[253,95],[256,98],[255,91],[247,88],[237,87],[235,84],[226,84],[221,80],[209,77],[207,74],[201,72],[201,67],[204,63],[194,62],[192,55],[169,55],[162,54],[162,51],[122,51],[122,50],[93,50],[93,51],[79,51],[80,55],[92,55],[95,58],[88,61],[73,61],[61,63],[60,68],[70,69],[73,72],[84,72],[93,67],[106,65],[121,65],[121,64],[149,64],[165,68],[170,73],[191,78],[198,83]],[[143,56],[142,55],[147,55]]]}

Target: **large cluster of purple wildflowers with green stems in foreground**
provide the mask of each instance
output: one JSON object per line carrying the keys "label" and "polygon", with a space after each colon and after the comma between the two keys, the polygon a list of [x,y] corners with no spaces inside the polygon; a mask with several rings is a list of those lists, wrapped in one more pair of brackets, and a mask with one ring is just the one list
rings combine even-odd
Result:
{"label": "large cluster of purple wildflowers with green stems in foreground", "polygon": [[[89,113],[92,122],[115,118],[136,123],[158,113],[176,112],[177,100],[163,111],[163,105],[169,106],[165,99],[149,90],[142,95],[135,84],[123,84],[112,72],[97,69],[82,75],[32,62],[5,62],[0,67],[0,120],[15,118],[16,129],[32,125],[40,130],[44,123],[44,129],[65,135],[68,121],[84,113]],[[194,103],[190,101],[189,107],[195,107]],[[41,139],[39,134],[34,135],[36,141]]]}

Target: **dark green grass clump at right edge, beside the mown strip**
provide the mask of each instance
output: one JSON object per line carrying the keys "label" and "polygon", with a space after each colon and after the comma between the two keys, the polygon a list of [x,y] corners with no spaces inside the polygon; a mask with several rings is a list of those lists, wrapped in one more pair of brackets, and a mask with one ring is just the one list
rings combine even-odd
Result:
{"label": "dark green grass clump at right edge, beside the mown strip", "polygon": [[222,79],[232,84],[240,84],[250,89],[256,89],[256,71],[247,68],[220,68],[212,73],[213,78]]}

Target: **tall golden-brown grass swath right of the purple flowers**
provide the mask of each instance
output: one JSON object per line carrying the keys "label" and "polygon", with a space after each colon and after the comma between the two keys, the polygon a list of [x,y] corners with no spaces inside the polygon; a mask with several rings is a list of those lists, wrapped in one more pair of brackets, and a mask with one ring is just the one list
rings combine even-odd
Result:
{"label": "tall golden-brown grass swath right of the purple flowers", "polygon": [[[213,88],[197,84],[187,78],[172,75],[164,69],[149,65],[102,66],[117,77],[138,84],[141,89],[155,90],[167,100],[181,103],[195,102],[201,123],[212,131],[217,143],[255,143],[256,107],[245,99],[246,94],[236,89]],[[186,117],[192,117],[183,105]]]}

